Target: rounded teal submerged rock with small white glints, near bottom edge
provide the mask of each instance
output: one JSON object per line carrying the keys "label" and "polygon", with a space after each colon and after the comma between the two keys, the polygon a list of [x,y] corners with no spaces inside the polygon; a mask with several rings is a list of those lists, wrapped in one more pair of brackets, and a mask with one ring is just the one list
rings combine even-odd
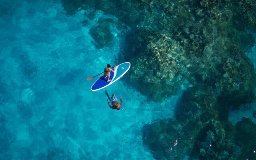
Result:
{"label": "rounded teal submerged rock with small white glints, near bottom edge", "polygon": [[142,130],[142,140],[156,159],[183,160],[193,147],[194,139],[187,137],[176,120],[160,120]]}

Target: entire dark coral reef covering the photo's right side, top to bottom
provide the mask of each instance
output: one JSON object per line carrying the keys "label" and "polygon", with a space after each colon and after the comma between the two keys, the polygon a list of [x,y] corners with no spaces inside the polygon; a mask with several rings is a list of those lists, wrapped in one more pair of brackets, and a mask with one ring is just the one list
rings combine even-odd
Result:
{"label": "entire dark coral reef covering the photo's right side, top to bottom", "polygon": [[248,131],[255,124],[228,122],[230,106],[255,100],[256,72],[244,53],[255,45],[254,0],[63,0],[63,6],[68,14],[85,6],[102,10],[132,28],[124,46],[132,63],[127,81],[137,82],[132,84],[151,100],[162,102],[180,85],[188,88],[175,118],[143,128],[143,142],[156,159],[255,158],[247,150],[254,144],[242,139],[254,139]]}

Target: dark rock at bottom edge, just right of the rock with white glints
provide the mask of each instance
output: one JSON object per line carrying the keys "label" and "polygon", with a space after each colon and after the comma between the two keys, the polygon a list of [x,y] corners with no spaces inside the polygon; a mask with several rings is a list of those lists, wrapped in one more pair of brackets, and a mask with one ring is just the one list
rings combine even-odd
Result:
{"label": "dark rock at bottom edge, just right of the rock with white glints", "polygon": [[190,158],[202,160],[234,160],[241,154],[234,143],[234,126],[230,122],[213,121],[200,130]]}

